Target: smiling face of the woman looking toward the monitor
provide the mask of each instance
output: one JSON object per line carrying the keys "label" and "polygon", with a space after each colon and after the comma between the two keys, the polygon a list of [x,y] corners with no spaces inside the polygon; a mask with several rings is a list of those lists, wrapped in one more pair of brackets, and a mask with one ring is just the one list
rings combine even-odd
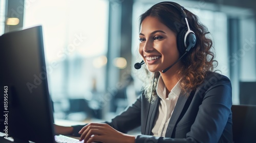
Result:
{"label": "smiling face of the woman looking toward the monitor", "polygon": [[152,72],[162,71],[179,59],[176,34],[155,17],[142,21],[139,40],[139,53]]}

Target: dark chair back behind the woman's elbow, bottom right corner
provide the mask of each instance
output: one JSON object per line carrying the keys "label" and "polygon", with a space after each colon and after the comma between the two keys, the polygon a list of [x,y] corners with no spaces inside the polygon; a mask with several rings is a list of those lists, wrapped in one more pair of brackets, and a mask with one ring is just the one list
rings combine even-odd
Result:
{"label": "dark chair back behind the woman's elbow, bottom right corner", "polygon": [[255,142],[256,105],[232,105],[233,142]]}

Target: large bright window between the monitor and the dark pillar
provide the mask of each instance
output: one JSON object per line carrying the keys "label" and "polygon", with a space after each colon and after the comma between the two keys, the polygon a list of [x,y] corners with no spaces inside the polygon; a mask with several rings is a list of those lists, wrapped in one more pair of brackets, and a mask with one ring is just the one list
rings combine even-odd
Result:
{"label": "large bright window between the monitor and the dark pillar", "polygon": [[61,104],[69,99],[91,100],[92,92],[104,92],[109,2],[27,0],[24,11],[24,29],[42,25],[54,110],[69,110]]}

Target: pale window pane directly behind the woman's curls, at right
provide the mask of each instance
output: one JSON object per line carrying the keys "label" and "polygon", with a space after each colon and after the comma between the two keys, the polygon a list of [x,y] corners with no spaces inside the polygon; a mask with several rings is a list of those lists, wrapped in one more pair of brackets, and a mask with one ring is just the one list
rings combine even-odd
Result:
{"label": "pale window pane directly behind the woman's curls, at right", "polygon": [[[215,56],[218,61],[216,70],[220,70],[221,74],[229,76],[228,61],[228,39],[227,39],[227,15],[223,12],[189,9],[199,17],[199,20],[208,28],[213,46],[215,48]],[[219,24],[221,23],[221,25]]]}

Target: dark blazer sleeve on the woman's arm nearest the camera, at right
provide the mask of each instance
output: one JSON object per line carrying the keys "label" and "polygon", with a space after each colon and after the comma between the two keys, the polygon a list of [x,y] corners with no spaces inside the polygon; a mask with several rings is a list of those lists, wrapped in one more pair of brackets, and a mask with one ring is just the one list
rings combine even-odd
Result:
{"label": "dark blazer sleeve on the woman's arm nearest the camera, at right", "polygon": [[226,126],[230,127],[227,132],[230,133],[230,129],[232,129],[232,121],[230,121],[232,105],[230,80],[225,76],[218,80],[216,80],[216,76],[215,78],[208,78],[197,89],[195,96],[197,96],[197,99],[201,99],[201,101],[195,122],[191,125],[190,131],[186,133],[185,138],[138,135],[136,143],[227,142],[227,140],[223,141],[220,138],[223,136]]}

